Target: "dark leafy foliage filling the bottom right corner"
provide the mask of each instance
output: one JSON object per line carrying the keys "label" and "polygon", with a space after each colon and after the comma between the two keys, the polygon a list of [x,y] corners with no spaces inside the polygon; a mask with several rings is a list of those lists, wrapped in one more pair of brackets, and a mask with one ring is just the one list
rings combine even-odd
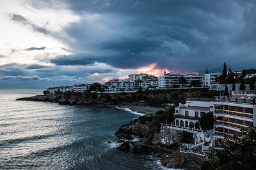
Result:
{"label": "dark leafy foliage filling the bottom right corner", "polygon": [[256,169],[256,127],[241,129],[246,138],[227,139],[222,150],[211,150],[201,169]]}

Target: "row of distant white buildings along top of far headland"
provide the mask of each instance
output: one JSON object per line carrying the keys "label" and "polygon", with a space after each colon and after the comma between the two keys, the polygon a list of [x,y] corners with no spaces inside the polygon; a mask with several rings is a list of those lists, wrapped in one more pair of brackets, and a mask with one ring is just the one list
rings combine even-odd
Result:
{"label": "row of distant white buildings along top of far headland", "polygon": [[[235,78],[240,78],[243,71],[234,71],[232,73],[231,69],[227,72],[230,80]],[[216,81],[216,78],[221,76],[221,72],[209,73],[206,68],[204,74],[189,73],[182,75],[172,71],[157,77],[152,74],[140,73],[140,74],[129,74],[126,79],[113,78],[102,83],[102,88],[98,92],[113,93],[113,92],[131,92],[138,90],[168,90],[173,88],[190,88],[190,87],[208,87],[210,90],[224,91],[227,85],[228,92],[231,90],[239,90],[240,83],[235,81],[228,81],[227,83],[222,83]],[[231,77],[232,76],[232,77]],[[256,76],[255,69],[249,69],[244,76],[245,79],[250,79]],[[83,83],[76,84],[72,86],[60,87],[49,87],[47,89],[48,94],[55,94],[56,92],[74,92],[83,93],[90,90],[92,84]],[[250,83],[244,83],[244,90],[250,90]],[[95,91],[95,90],[91,90]]]}

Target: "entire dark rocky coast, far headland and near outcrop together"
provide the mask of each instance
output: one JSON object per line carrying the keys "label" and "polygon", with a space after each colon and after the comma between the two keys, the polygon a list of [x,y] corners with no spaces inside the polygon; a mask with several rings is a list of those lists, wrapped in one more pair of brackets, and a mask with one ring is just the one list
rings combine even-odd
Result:
{"label": "entire dark rocky coast, far headland and near outcrop together", "polygon": [[[199,97],[205,92],[200,90],[184,90],[181,92],[136,92],[120,94],[84,93],[84,94],[54,94],[33,97],[23,97],[18,101],[44,101],[58,104],[85,105],[85,106],[118,106],[118,108],[144,113],[143,117],[122,125],[115,135],[120,145],[117,150],[154,155],[161,158],[161,164],[170,168],[198,167],[204,159],[191,153],[180,153],[182,143],[178,140],[170,145],[163,143],[166,137],[161,132],[161,123],[171,124],[174,120],[174,108],[163,108],[165,103],[184,102],[186,97]],[[160,110],[160,111],[159,111]],[[152,114],[153,113],[153,114]],[[177,132],[179,133],[179,132]],[[133,141],[136,137],[139,140]],[[176,136],[177,137],[177,136]],[[175,137],[175,138],[176,138]]]}

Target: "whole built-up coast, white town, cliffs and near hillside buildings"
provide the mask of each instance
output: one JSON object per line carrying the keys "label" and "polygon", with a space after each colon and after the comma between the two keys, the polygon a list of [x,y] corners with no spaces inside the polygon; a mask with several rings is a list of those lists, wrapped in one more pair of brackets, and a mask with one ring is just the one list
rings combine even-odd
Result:
{"label": "whole built-up coast, white town, cliffs and near hillside buildings", "polygon": [[[113,78],[104,84],[51,87],[44,96],[21,100],[96,106],[157,106],[160,111],[146,113],[118,129],[116,136],[128,141],[121,141],[117,149],[127,152],[132,144],[133,152],[161,155],[161,164],[180,168],[191,156],[180,164],[184,155],[179,155],[173,163],[170,158],[177,152],[166,157],[170,150],[159,153],[162,149],[156,146],[172,148],[178,144],[175,150],[179,154],[208,158],[211,148],[223,150],[223,146],[228,145],[228,138],[248,138],[243,129],[256,125],[255,79],[255,69],[232,73],[224,63],[221,73],[209,73],[206,69],[202,75],[181,75],[172,71],[158,78],[145,73],[130,74],[125,80]],[[140,136],[140,140],[129,141],[132,136]]]}

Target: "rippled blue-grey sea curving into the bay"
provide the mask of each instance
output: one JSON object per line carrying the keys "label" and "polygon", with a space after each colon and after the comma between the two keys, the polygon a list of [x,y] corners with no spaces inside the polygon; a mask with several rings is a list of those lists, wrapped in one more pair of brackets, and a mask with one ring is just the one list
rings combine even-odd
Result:
{"label": "rippled blue-grey sea curving into the bay", "polygon": [[0,169],[166,169],[159,158],[116,150],[115,132],[140,113],[15,100],[43,90],[0,88]]}

